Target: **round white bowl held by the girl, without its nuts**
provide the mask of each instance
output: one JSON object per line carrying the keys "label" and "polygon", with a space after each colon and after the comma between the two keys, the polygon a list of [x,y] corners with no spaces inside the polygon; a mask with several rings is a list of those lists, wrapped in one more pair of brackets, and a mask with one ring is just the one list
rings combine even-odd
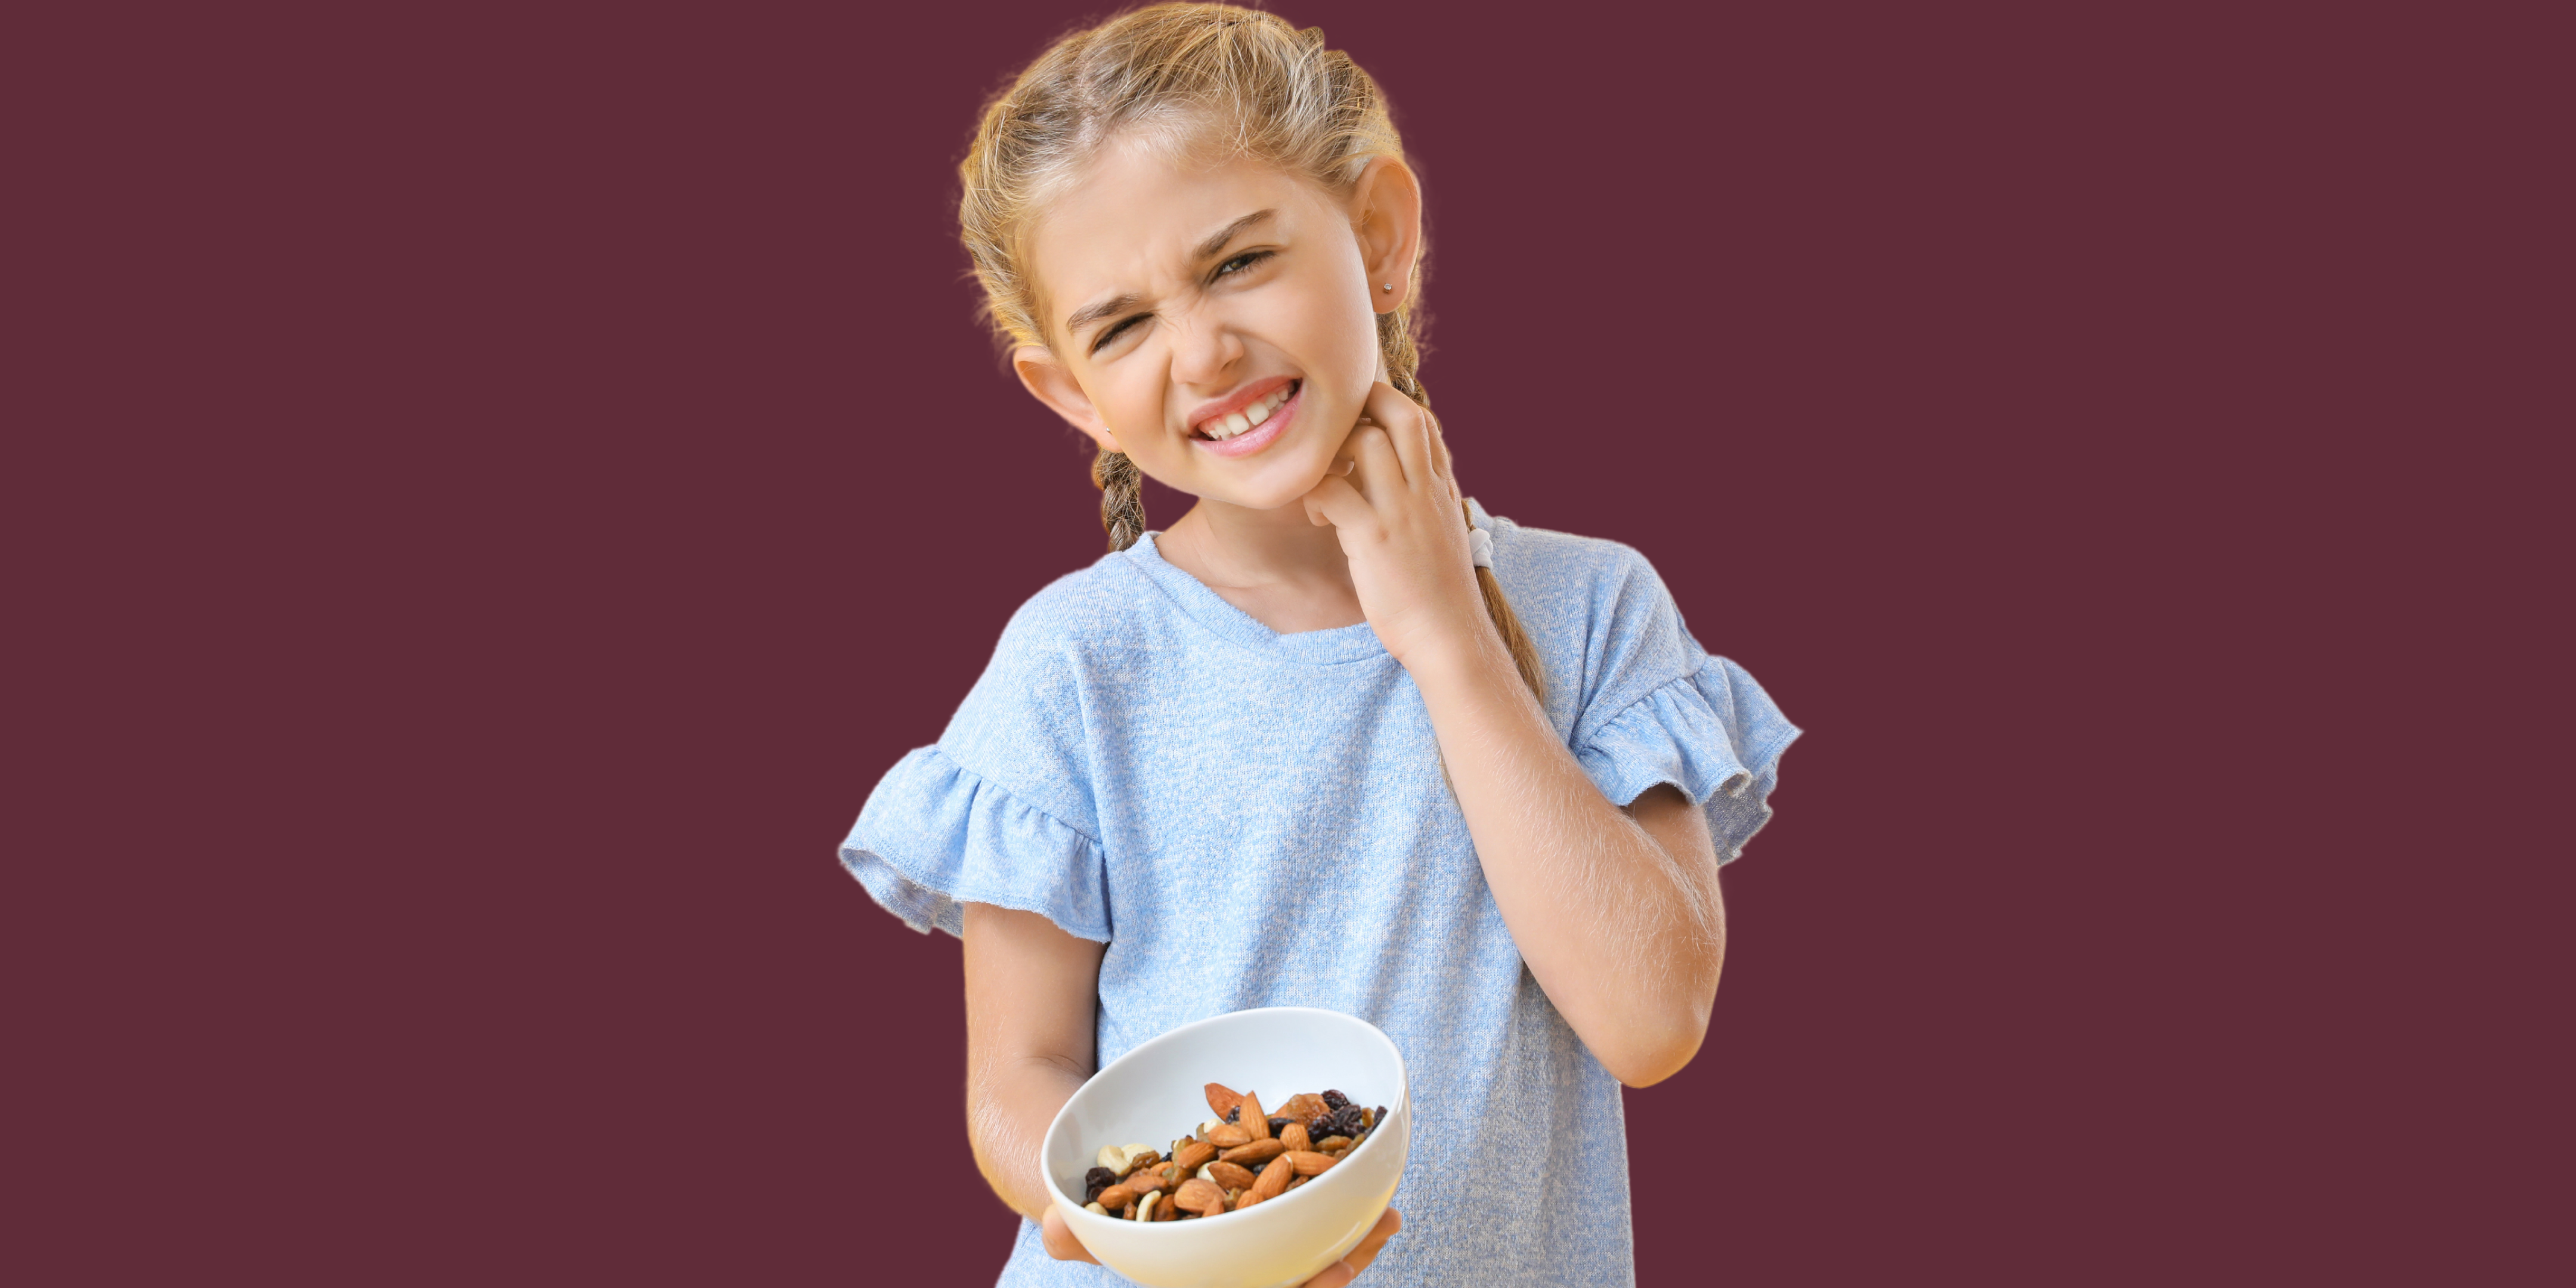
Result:
{"label": "round white bowl held by the girl, without its nuts", "polygon": [[[1252,1211],[1198,1221],[1126,1221],[1082,1208],[1082,1175],[1105,1144],[1172,1141],[1198,1131],[1208,1082],[1255,1092],[1267,1110],[1291,1095],[1340,1090],[1386,1105],[1386,1121],[1324,1175]],[[1404,1054],[1378,1025],[1314,1007],[1236,1010],[1180,1025],[1092,1074],[1046,1128],[1041,1164],[1056,1208],[1100,1265],[1149,1288],[1285,1288],[1342,1260],[1378,1224],[1404,1180],[1412,1139]]]}

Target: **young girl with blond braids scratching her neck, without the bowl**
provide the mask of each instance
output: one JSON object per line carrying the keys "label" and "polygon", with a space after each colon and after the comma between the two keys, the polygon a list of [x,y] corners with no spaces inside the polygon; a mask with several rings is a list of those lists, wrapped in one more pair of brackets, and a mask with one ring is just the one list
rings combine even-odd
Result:
{"label": "young girl with blond braids scratching her neck, without the bowl", "polygon": [[[1074,1087],[1275,1005],[1383,1028],[1417,1105],[1401,1221],[1316,1285],[1633,1283],[1618,1084],[1700,1048],[1718,863],[1798,729],[1643,556],[1461,500],[1414,379],[1422,188],[1321,31],[1079,31],[961,173],[1110,554],[1020,608],[842,860],[966,940],[966,1131],[1028,1216],[1002,1283],[1115,1283],[1038,1172]],[[1198,505],[1146,531],[1139,471]]]}

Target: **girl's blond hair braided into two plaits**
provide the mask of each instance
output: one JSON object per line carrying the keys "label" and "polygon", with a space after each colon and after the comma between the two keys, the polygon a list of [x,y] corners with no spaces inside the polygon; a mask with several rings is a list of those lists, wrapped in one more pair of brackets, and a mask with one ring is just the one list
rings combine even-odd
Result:
{"label": "girl's blond hair braided into two plaits", "polygon": [[[1324,28],[1301,31],[1236,5],[1151,5],[1074,31],[984,106],[974,147],[958,162],[966,188],[958,232],[1005,343],[1046,348],[1028,232],[1110,139],[1262,160],[1334,196],[1350,196],[1368,162],[1404,160],[1378,82],[1350,54],[1324,49]],[[1414,255],[1396,307],[1378,314],[1378,355],[1386,384],[1430,407],[1419,379],[1419,304],[1422,258]],[[1103,448],[1092,484],[1110,549],[1133,546],[1146,531],[1136,464]],[[1502,585],[1492,569],[1476,569],[1476,582],[1520,677],[1543,696],[1538,649]]]}

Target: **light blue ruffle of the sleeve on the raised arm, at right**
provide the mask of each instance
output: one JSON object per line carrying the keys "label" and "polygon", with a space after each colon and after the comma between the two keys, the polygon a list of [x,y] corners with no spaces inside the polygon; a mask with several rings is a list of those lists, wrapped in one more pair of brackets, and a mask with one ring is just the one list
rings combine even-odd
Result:
{"label": "light blue ruffle of the sleeve on the raised arm, at right", "polygon": [[1672,783],[1708,811],[1718,863],[1739,858],[1770,822],[1780,752],[1798,737],[1770,693],[1723,657],[1584,726],[1574,757],[1602,793],[1631,804]]}

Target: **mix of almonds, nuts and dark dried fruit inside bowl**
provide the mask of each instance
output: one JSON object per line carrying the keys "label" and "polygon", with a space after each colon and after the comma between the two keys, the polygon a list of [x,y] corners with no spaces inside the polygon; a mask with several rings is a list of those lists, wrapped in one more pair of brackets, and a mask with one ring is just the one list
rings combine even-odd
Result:
{"label": "mix of almonds, nuts and dark dried fruit inside bowl", "polygon": [[1198,1221],[1278,1198],[1332,1170],[1386,1121],[1386,1105],[1352,1105],[1342,1092],[1291,1095],[1262,1113],[1252,1092],[1208,1082],[1208,1110],[1195,1136],[1162,1154],[1141,1144],[1100,1146],[1100,1167],[1082,1175],[1082,1206],[1128,1221]]}

